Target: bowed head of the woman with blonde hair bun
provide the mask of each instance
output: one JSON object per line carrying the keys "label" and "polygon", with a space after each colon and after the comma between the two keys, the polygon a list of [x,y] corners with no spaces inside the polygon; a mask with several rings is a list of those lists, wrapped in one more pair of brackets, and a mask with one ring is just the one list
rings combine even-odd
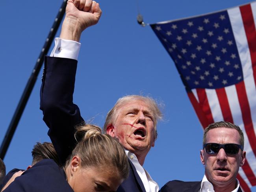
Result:
{"label": "bowed head of the woman with blonde hair bun", "polygon": [[128,177],[129,163],[122,145],[100,127],[77,128],[78,144],[65,164],[67,181],[74,192],[115,191]]}

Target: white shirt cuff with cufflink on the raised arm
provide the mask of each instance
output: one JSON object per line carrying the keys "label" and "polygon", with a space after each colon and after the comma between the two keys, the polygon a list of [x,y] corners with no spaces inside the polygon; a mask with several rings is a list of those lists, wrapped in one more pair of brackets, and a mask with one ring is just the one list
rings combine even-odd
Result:
{"label": "white shirt cuff with cufflink on the raised arm", "polygon": [[62,57],[78,60],[80,51],[80,42],[55,38],[55,46],[50,54],[50,57]]}

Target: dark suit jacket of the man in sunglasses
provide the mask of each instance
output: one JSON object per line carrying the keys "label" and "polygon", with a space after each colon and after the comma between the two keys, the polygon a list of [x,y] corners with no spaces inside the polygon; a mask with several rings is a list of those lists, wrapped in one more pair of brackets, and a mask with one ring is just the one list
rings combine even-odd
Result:
{"label": "dark suit jacket of the man in sunglasses", "polygon": [[[166,183],[161,189],[161,192],[198,192],[201,188],[201,181],[185,182],[173,180]],[[242,192],[238,188],[238,192]]]}

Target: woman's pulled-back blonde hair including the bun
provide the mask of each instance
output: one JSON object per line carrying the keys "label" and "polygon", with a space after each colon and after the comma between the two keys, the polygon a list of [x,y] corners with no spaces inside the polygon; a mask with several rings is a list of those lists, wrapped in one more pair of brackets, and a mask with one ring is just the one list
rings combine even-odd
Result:
{"label": "woman's pulled-back blonde hair including the bun", "polygon": [[129,174],[129,162],[122,145],[109,135],[101,134],[98,126],[87,124],[76,128],[75,137],[78,141],[66,162],[70,164],[72,157],[78,155],[82,167],[108,166],[116,169],[122,178]]}

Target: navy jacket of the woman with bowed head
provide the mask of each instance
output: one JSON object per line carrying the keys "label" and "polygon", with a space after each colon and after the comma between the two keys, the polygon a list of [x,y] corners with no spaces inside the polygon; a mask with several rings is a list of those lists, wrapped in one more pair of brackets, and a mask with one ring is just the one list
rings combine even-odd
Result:
{"label": "navy jacket of the woman with bowed head", "polygon": [[52,159],[43,159],[20,177],[4,192],[74,192],[66,181],[63,169]]}

